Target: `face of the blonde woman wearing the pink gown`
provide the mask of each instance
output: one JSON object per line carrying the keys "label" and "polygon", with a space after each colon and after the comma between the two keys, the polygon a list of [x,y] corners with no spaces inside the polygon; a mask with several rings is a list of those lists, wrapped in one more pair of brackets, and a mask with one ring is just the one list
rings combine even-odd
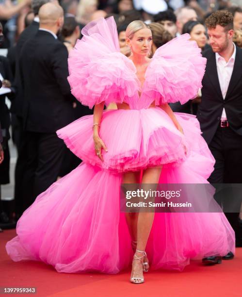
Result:
{"label": "face of the blonde woman wearing the pink gown", "polygon": [[148,28],[141,29],[134,33],[133,38],[126,39],[133,54],[147,56],[152,45],[152,33]]}

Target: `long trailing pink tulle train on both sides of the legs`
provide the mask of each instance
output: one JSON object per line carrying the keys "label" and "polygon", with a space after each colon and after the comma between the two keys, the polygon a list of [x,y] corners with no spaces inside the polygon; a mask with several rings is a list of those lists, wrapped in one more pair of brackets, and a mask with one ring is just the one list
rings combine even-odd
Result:
{"label": "long trailing pink tulle train on both sides of the legs", "polygon": [[[199,164],[188,158],[164,169],[160,182],[206,182],[198,173],[202,168],[195,173],[193,167]],[[119,211],[121,181],[121,174],[81,164],[24,212],[18,235],[6,245],[9,256],[43,261],[59,272],[127,268],[132,250],[125,214]],[[223,213],[156,213],[146,251],[151,269],[181,271],[190,259],[234,252],[234,231]]]}

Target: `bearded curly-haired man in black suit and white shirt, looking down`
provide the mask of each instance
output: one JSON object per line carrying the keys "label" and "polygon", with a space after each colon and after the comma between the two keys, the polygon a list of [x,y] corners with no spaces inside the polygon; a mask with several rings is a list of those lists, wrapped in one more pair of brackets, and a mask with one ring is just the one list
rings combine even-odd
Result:
{"label": "bearded curly-haired man in black suit and white shirt, looking down", "polygon": [[[203,52],[207,66],[197,119],[216,160],[209,181],[242,183],[242,49],[232,41],[234,31],[231,13],[213,13],[206,19],[206,26],[211,49]],[[226,197],[223,204],[228,203],[230,198]],[[238,215],[226,213],[235,230],[237,246],[241,245]],[[232,258],[231,252],[223,257]],[[203,260],[204,263],[221,263],[219,257]]]}

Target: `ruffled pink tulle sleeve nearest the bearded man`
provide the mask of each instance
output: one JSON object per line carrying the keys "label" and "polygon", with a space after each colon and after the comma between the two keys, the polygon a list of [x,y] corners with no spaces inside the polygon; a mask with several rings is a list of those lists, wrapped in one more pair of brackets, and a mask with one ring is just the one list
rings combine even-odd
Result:
{"label": "ruffled pink tulle sleeve nearest the bearded man", "polygon": [[174,38],[156,50],[145,74],[144,92],[155,104],[186,103],[202,87],[207,59],[189,34]]}

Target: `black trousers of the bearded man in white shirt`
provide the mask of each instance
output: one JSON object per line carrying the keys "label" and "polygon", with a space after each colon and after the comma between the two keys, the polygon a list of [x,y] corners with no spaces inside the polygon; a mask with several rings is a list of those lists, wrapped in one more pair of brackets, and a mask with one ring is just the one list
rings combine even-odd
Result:
{"label": "black trousers of the bearded man in white shirt", "polygon": [[[242,136],[235,133],[230,127],[218,127],[213,139],[209,145],[216,163],[214,171],[211,173],[210,183],[242,183]],[[231,201],[231,196],[220,199],[219,194],[216,197],[218,203],[225,207],[229,203],[237,203],[240,209],[241,199]],[[242,243],[242,234],[238,224],[238,213],[226,213],[225,215],[235,231],[237,245]]]}

